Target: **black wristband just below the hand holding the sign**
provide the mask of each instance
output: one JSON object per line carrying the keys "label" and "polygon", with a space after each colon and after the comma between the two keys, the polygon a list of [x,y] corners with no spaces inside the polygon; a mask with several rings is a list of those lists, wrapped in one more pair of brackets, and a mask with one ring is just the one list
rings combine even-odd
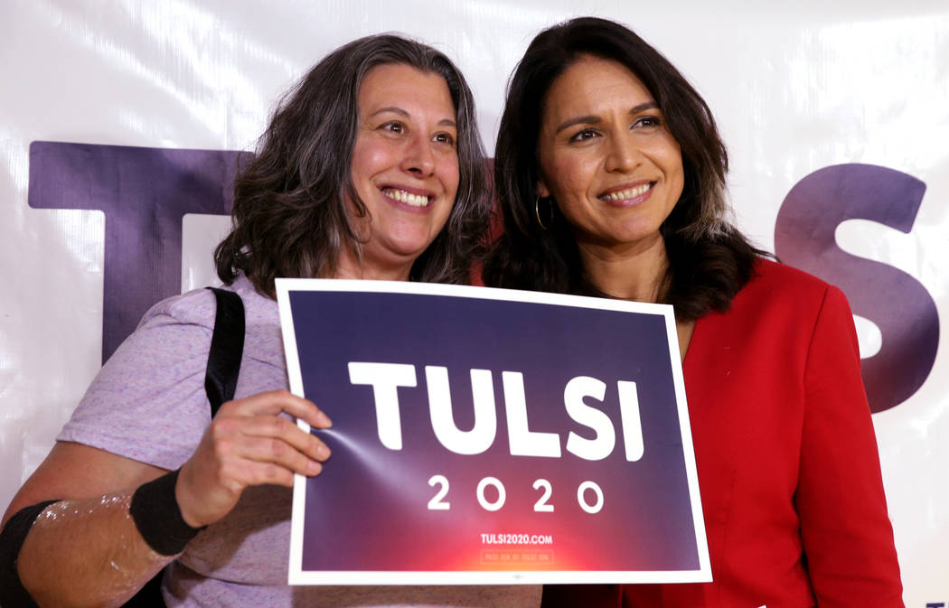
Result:
{"label": "black wristband just below the hand holding the sign", "polygon": [[141,538],[159,555],[177,555],[184,551],[204,527],[192,527],[181,517],[175,498],[177,470],[139,486],[132,494],[129,513]]}

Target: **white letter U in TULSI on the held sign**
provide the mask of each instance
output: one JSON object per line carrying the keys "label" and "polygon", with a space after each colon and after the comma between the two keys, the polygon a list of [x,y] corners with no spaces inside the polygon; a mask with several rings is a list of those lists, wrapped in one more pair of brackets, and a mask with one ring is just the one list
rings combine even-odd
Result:
{"label": "white letter U in TULSI on the held sign", "polygon": [[491,370],[473,369],[474,427],[459,431],[452,411],[452,393],[448,386],[448,368],[425,366],[428,384],[428,408],[432,414],[432,430],[441,445],[458,454],[479,454],[494,443],[497,413],[494,411],[494,386]]}

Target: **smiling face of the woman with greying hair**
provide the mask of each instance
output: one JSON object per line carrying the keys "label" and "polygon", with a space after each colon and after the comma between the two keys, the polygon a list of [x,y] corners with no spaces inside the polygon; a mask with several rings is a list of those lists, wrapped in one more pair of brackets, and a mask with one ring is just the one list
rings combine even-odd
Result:
{"label": "smiling face of the woman with greying hair", "polygon": [[456,139],[455,104],[441,76],[405,64],[366,74],[352,160],[353,183],[368,212],[354,218],[363,264],[344,249],[338,276],[408,278],[455,203]]}

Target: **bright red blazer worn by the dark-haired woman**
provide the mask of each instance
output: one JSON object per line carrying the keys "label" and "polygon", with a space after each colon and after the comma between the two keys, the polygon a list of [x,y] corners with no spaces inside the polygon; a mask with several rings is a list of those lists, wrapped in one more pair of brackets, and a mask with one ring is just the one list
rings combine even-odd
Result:
{"label": "bright red blazer worn by the dark-haired woman", "polygon": [[[844,294],[762,260],[699,319],[685,390],[713,582],[549,586],[544,606],[902,608]],[[622,601],[622,603],[621,603]]]}

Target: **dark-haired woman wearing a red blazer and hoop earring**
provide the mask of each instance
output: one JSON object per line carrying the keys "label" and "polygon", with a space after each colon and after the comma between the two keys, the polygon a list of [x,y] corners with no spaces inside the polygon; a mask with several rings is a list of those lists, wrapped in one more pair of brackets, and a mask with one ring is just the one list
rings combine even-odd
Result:
{"label": "dark-haired woman wearing a red blazer and hoop earring", "polygon": [[619,24],[549,28],[512,77],[484,281],[674,305],[714,579],[546,606],[902,607],[847,300],[735,230],[727,168],[706,103]]}

